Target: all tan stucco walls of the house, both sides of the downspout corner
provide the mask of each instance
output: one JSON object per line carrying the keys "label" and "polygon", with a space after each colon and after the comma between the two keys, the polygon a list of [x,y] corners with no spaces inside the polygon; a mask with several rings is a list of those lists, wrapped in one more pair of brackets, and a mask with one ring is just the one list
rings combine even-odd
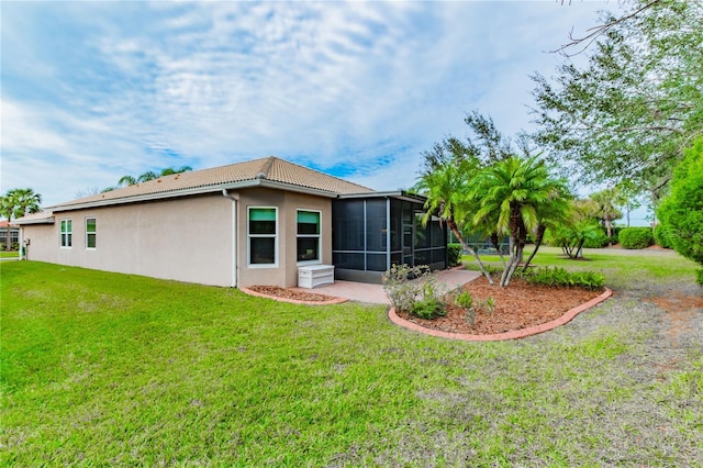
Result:
{"label": "all tan stucco walls of the house, both sides of the downspout corner", "polygon": [[[237,286],[298,285],[297,210],[321,212],[322,263],[332,265],[332,201],[305,193],[238,193]],[[247,265],[247,208],[278,208],[278,266]],[[25,225],[29,259],[213,286],[233,285],[233,202],[221,193],[54,213],[53,225]],[[97,220],[97,248],[86,248],[86,218]],[[72,246],[60,248],[60,220],[72,220]]]}

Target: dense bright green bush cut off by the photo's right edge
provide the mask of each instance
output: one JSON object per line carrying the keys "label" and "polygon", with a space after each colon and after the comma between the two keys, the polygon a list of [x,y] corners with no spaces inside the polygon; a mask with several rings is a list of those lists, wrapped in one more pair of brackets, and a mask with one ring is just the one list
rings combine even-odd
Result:
{"label": "dense bright green bush cut off by the photo's right edge", "polygon": [[657,214],[671,246],[703,265],[703,136],[695,140],[674,169],[671,193],[662,200]]}

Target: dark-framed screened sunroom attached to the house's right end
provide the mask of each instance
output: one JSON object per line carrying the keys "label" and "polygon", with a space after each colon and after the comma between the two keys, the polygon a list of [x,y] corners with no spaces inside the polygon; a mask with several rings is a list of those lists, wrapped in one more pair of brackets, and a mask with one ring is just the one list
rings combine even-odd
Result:
{"label": "dark-framed screened sunroom attached to the house's right end", "polygon": [[332,202],[335,278],[381,282],[391,265],[447,267],[447,232],[423,226],[425,199],[403,191],[345,194]]}

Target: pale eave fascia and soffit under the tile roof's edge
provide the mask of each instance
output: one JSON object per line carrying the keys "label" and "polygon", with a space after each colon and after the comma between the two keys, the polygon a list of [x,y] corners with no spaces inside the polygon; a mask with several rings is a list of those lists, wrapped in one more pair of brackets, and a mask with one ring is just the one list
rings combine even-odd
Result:
{"label": "pale eave fascia and soffit under the tile roof's edge", "polygon": [[59,204],[59,205],[48,207],[48,208],[54,212],[74,211],[74,210],[83,210],[88,208],[111,207],[115,204],[143,203],[148,201],[167,200],[167,199],[180,198],[180,197],[193,197],[193,196],[207,194],[207,193],[221,193],[222,190],[241,190],[241,189],[250,189],[256,187],[274,189],[274,190],[284,190],[289,192],[306,193],[306,194],[331,198],[331,199],[337,197],[336,192],[331,192],[327,190],[313,189],[309,187],[277,182],[277,181],[267,180],[267,179],[254,179],[254,180],[242,180],[237,182],[219,183],[216,186],[194,187],[194,188],[182,189],[182,190],[165,191],[165,192],[158,192],[158,193],[144,193],[144,194],[138,194],[133,197],[121,197],[121,198],[104,199],[104,200],[91,200],[82,203],[72,203],[72,204],[66,203],[66,204]]}

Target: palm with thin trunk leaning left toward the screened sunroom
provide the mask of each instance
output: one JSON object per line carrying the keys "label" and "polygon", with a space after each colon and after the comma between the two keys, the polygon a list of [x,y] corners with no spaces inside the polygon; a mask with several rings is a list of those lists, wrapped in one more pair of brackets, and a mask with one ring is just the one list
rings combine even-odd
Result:
{"label": "palm with thin trunk leaning left toward the screened sunroom", "polygon": [[491,275],[486,269],[476,250],[471,248],[459,232],[457,223],[465,224],[472,211],[472,203],[467,198],[470,180],[479,170],[479,163],[475,159],[464,157],[451,157],[442,165],[437,165],[433,170],[423,174],[415,185],[415,190],[421,192],[427,201],[425,202],[425,215],[422,222],[427,223],[433,215],[447,224],[449,231],[469,254],[473,255],[481,271],[492,285]]}

